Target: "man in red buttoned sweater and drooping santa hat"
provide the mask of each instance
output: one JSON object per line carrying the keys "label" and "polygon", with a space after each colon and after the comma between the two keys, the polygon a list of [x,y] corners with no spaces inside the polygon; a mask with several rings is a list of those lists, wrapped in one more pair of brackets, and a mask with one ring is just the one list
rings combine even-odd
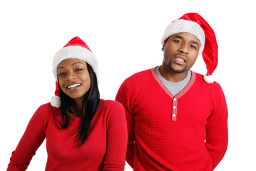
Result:
{"label": "man in red buttoned sweater and drooping santa hat", "polygon": [[[162,65],[130,76],[116,95],[126,110],[126,161],[134,170],[213,170],[227,150],[225,95],[210,76],[215,33],[199,14],[185,14],[162,44]],[[200,54],[205,76],[190,71]]]}

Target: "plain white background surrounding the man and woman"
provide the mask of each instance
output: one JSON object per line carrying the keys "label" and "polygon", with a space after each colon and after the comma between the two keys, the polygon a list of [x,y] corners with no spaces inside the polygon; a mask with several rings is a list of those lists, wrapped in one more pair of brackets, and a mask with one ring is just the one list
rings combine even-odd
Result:
{"label": "plain white background surrounding the man and woman", "polygon": [[[36,108],[51,99],[52,58],[73,36],[98,58],[101,98],[114,100],[128,76],[162,63],[163,31],[187,12],[208,21],[219,45],[214,76],[227,99],[229,145],[215,170],[256,170],[256,13],[250,0],[0,0],[0,170]],[[206,72],[201,57],[192,70]],[[28,170],[44,170],[46,158],[43,142]]]}

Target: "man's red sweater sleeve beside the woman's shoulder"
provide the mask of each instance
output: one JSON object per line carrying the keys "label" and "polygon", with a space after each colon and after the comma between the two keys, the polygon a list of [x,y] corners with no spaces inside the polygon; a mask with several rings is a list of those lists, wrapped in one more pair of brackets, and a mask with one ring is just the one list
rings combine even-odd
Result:
{"label": "man's red sweater sleeve beside the woman's shoulder", "polygon": [[123,104],[123,107],[126,111],[126,122],[128,128],[128,145],[126,152],[126,161],[130,165],[130,167],[134,167],[133,165],[133,157],[134,157],[134,116],[133,116],[133,98],[131,97],[132,93],[129,92],[126,87],[126,81],[121,85],[116,95],[116,100]]}

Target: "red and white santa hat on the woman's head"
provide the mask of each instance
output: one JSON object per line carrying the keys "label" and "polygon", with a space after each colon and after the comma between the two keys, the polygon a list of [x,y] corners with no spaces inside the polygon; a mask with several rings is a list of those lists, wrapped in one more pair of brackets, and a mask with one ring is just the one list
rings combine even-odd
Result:
{"label": "red and white santa hat on the woman's head", "polygon": [[61,61],[68,58],[76,58],[82,61],[86,61],[86,63],[88,63],[93,68],[94,73],[96,73],[97,81],[99,81],[98,61],[96,57],[93,55],[86,43],[81,40],[81,38],[72,38],[71,41],[68,41],[68,43],[59,51],[57,51],[57,53],[53,57],[53,76],[56,78],[56,90],[55,96],[51,98],[51,105],[56,108],[59,108],[61,106],[61,98],[57,82],[57,67],[61,63]]}

